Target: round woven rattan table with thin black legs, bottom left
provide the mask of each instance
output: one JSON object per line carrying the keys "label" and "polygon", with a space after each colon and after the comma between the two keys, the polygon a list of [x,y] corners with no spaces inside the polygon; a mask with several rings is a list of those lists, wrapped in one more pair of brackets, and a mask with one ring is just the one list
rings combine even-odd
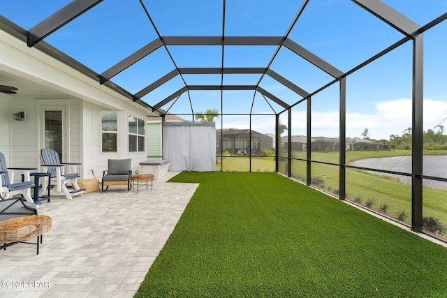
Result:
{"label": "round woven rattan table with thin black legs, bottom left", "polygon": [[[20,216],[0,221],[0,243],[3,248],[17,242],[37,237],[37,254],[39,254],[39,242],[42,243],[42,235],[51,229],[51,218],[45,215]],[[9,244],[9,245],[8,245]]]}

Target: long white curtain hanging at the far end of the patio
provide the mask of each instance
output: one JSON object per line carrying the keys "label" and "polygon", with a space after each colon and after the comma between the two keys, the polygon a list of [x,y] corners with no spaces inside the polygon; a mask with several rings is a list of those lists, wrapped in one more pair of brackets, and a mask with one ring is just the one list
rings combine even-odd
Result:
{"label": "long white curtain hanging at the far end of the patio", "polygon": [[163,123],[163,159],[170,162],[170,171],[216,170],[216,124]]}

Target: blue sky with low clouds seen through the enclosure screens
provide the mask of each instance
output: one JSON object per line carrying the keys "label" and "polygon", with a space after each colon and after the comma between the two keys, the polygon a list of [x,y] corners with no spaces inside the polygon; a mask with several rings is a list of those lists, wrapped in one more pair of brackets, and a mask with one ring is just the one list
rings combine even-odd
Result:
{"label": "blue sky with low clouds seen through the enclosure screens", "polygon": [[[30,29],[71,1],[3,1],[0,14]],[[220,36],[222,1],[143,0],[161,36]],[[300,7],[296,0],[226,1],[226,36],[284,36]],[[389,6],[424,25],[447,12],[444,0],[384,0]],[[424,129],[430,129],[447,117],[447,21],[424,33]],[[289,38],[346,72],[404,36],[373,15],[345,0],[310,0]],[[156,31],[138,0],[104,0],[84,15],[45,38],[82,64],[102,73],[110,66],[157,38]],[[178,67],[221,67],[220,46],[170,46],[169,54]],[[276,47],[231,47],[224,50],[225,67],[266,67]],[[347,80],[346,135],[360,137],[364,128],[369,136],[388,139],[411,126],[411,43],[406,43],[381,59],[365,66]],[[138,64],[126,69],[115,82],[136,93],[159,77],[175,69],[170,55],[161,47]],[[271,69],[312,93],[332,81],[332,77],[282,47]],[[224,84],[256,84],[260,75],[226,75]],[[187,84],[220,84],[220,75],[184,75]],[[266,75],[260,83],[292,104],[300,96]],[[155,105],[184,87],[177,76],[145,96]],[[338,136],[338,84],[312,98],[312,135]],[[279,105],[253,91],[191,91],[194,112],[223,108],[223,113],[258,114],[252,129],[274,133],[274,117],[262,116],[282,110]],[[254,105],[252,107],[252,101]],[[187,94],[163,109],[177,114],[191,113]],[[305,103],[293,108],[293,135],[305,135]],[[190,116],[185,116],[191,119]],[[286,117],[281,117],[284,124]],[[447,125],[447,121],[443,123]],[[220,121],[218,121],[220,126]],[[249,117],[225,117],[224,128],[248,128]]]}

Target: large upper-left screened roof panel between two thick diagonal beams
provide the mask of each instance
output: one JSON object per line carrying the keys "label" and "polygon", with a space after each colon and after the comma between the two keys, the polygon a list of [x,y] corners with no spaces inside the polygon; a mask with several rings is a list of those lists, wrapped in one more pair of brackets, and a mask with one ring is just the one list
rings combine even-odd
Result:
{"label": "large upper-left screened roof panel between two thick diagonal beams", "polygon": [[[107,20],[98,22],[98,19]],[[110,68],[157,38],[137,1],[99,3],[45,38],[91,69]]]}

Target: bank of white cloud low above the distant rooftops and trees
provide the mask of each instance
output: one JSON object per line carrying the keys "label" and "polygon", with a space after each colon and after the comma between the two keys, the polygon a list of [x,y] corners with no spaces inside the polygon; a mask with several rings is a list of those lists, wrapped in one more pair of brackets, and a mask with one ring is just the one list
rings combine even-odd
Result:
{"label": "bank of white cloud low above the distant rooftops and trees", "polygon": [[[365,128],[369,130],[369,137],[374,139],[387,139],[390,135],[402,135],[402,131],[411,127],[411,99],[400,98],[376,103],[370,110],[362,110],[346,114],[346,136],[360,137]],[[433,128],[447,117],[446,100],[424,100],[424,130]],[[273,117],[256,117],[251,128],[261,133],[274,133]],[[223,121],[229,128],[249,128],[248,117],[231,117],[229,121]],[[305,135],[307,124],[307,112],[305,110],[293,110],[292,134]],[[287,124],[287,118],[281,117],[281,123]],[[443,123],[447,126],[447,121]],[[312,112],[312,135],[324,135],[338,137],[339,135],[339,111],[328,110],[325,112]]]}

